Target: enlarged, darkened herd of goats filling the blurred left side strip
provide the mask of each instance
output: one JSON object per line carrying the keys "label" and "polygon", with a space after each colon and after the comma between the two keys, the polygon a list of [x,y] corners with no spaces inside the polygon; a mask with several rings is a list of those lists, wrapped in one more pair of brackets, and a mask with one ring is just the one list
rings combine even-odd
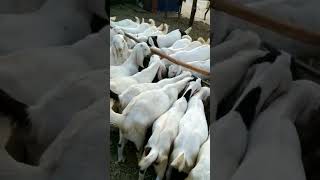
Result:
{"label": "enlarged, darkened herd of goats filling the blurred left side strip", "polygon": [[1,0],[0,179],[106,178],[105,3]]}

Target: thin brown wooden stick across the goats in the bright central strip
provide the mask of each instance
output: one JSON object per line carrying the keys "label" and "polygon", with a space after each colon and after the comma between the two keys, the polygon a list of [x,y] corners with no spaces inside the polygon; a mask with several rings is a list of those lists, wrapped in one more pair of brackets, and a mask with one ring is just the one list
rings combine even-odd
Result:
{"label": "thin brown wooden stick across the goats in the bright central strip", "polygon": [[[140,41],[139,41],[137,38],[131,36],[130,34],[127,34],[127,33],[124,33],[124,34],[125,34],[127,37],[129,37],[130,39],[136,41],[137,43],[140,43]],[[176,60],[175,58],[173,58],[173,57],[171,57],[171,56],[168,56],[167,54],[163,53],[163,52],[162,52],[160,49],[158,49],[158,48],[150,47],[150,50],[151,50],[152,53],[157,54],[157,55],[159,55],[159,56],[162,57],[162,58],[166,58],[167,60],[171,61],[171,62],[174,63],[174,64],[183,66],[183,67],[185,67],[185,68],[188,68],[188,69],[190,69],[190,70],[192,70],[192,71],[195,71],[195,72],[197,72],[197,73],[203,74],[203,75],[205,75],[205,76],[210,76],[210,72],[208,72],[208,71],[206,71],[206,70],[203,70],[203,69],[201,69],[201,68],[192,66],[192,65],[190,65],[190,64],[184,63],[184,62],[182,62],[182,61]]]}

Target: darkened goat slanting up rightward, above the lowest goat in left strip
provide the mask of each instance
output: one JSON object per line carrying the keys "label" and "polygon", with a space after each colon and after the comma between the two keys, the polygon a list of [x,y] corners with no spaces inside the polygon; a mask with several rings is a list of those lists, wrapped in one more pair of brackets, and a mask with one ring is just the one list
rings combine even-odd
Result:
{"label": "darkened goat slanting up rightward, above the lowest goat in left strip", "polygon": [[18,132],[13,137],[23,136],[27,142],[34,143],[26,143],[26,148],[19,148],[14,152],[26,150],[27,153],[20,153],[28,157],[29,163],[37,164],[42,152],[69,123],[71,117],[104,96],[106,74],[103,69],[69,77],[48,91],[35,105],[27,107],[27,117],[24,118],[30,121],[31,128],[25,133]]}

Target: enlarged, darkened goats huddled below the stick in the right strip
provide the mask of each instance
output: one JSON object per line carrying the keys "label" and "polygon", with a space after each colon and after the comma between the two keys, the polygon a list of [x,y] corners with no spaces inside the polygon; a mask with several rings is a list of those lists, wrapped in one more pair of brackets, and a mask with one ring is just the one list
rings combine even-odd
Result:
{"label": "enlarged, darkened goats huddled below the stick in the right strip", "polygon": [[211,53],[211,177],[319,179],[319,84],[249,30],[234,29]]}

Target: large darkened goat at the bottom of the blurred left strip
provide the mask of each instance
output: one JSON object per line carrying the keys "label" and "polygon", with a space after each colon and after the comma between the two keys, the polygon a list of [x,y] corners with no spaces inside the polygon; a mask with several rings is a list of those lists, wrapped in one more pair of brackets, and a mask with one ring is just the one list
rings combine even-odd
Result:
{"label": "large darkened goat at the bottom of the blurred left strip", "polygon": [[[0,165],[0,179],[86,180],[90,177],[104,179],[105,160],[101,155],[105,154],[104,141],[107,136],[105,105],[103,97],[94,104],[90,103],[86,110],[73,116],[41,156],[38,166],[14,160],[5,147],[0,145],[0,156],[3,162]],[[27,131],[24,127],[20,128]]]}

